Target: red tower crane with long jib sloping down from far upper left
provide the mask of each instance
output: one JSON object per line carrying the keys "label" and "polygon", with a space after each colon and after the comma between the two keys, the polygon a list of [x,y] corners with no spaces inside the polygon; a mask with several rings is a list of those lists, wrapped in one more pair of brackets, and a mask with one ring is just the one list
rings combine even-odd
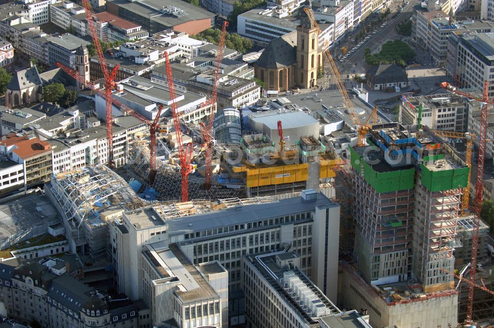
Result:
{"label": "red tower crane with long jib sloping down from far upper left", "polygon": [[[102,98],[106,96],[105,91],[100,88],[97,88],[93,83],[91,82],[85,82],[84,78],[79,74],[78,71],[75,71],[73,69],[68,68],[67,66],[56,63],[58,67],[60,67],[65,73],[70,75],[72,78],[74,78],[76,81],[79,82],[84,82],[86,86],[95,92],[97,92]],[[161,112],[163,111],[163,105],[160,105],[158,108],[158,113],[156,114],[156,117],[153,121],[149,121],[146,117],[142,116],[141,114],[135,112],[128,106],[126,106],[124,103],[120,102],[117,98],[112,97],[112,103],[113,105],[119,107],[122,112],[124,112],[127,115],[133,116],[136,119],[138,119],[141,122],[144,122],[149,125],[149,133],[150,133],[150,145],[149,145],[149,183],[152,185],[155,181],[156,178],[156,173],[157,173],[157,167],[156,167],[156,132],[159,131],[160,129],[160,116]]]}

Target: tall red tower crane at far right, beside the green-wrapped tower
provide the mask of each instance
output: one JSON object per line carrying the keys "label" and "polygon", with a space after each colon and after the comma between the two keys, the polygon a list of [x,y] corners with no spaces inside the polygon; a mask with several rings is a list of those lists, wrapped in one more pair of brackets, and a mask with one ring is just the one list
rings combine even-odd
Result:
{"label": "tall red tower crane at far right, beside the green-wrapped tower", "polygon": [[[482,208],[482,189],[484,186],[484,158],[486,153],[486,139],[487,139],[487,117],[488,117],[488,104],[494,104],[489,99],[489,82],[484,82],[484,90],[482,96],[475,96],[470,93],[458,90],[456,87],[448,82],[441,83],[441,87],[446,88],[453,93],[462,95],[464,97],[478,100],[484,103],[480,113],[480,133],[478,135],[479,141],[479,160],[477,168],[477,183],[475,187],[475,202],[474,202],[474,219],[473,219],[473,231],[472,231],[472,259],[470,266],[470,278],[468,287],[468,305],[466,312],[466,323],[473,323],[473,296],[475,293],[475,275],[477,273],[477,253],[479,248],[479,226],[480,226],[480,211]],[[470,183],[470,181],[468,181]]]}

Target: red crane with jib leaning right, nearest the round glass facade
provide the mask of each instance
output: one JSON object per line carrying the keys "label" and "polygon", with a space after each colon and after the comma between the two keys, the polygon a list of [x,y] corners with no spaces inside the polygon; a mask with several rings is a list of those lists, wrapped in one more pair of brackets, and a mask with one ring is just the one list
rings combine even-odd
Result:
{"label": "red crane with jib leaning right, nearest the round glass facade", "polygon": [[[223,22],[223,28],[221,30],[221,37],[218,44],[218,52],[216,53],[216,66],[214,68],[214,80],[213,80],[213,91],[211,97],[203,104],[203,108],[216,103],[216,96],[218,94],[218,79],[219,79],[219,71],[221,66],[221,60],[223,59],[223,50],[225,49],[225,36],[226,36],[226,28],[228,27],[228,21]],[[211,153],[212,153],[212,135],[213,135],[213,122],[214,122],[214,109],[211,106],[211,111],[209,114],[209,121],[206,123],[201,123],[201,132],[203,135],[204,143],[206,145],[206,158],[205,158],[205,189],[209,190],[211,188],[212,182],[212,167],[211,167]]]}

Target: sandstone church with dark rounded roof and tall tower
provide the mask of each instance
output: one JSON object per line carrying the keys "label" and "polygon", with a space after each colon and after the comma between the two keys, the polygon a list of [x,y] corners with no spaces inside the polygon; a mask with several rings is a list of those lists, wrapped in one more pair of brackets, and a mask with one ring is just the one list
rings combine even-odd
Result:
{"label": "sandstone church with dark rounded roof and tall tower", "polygon": [[321,58],[317,28],[302,10],[296,31],[269,42],[254,64],[254,75],[270,91],[313,87],[317,84]]}

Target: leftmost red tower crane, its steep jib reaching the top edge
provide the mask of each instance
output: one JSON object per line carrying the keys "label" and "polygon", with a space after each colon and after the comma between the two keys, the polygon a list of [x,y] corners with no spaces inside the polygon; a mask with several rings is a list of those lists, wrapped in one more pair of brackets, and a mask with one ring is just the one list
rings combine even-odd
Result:
{"label": "leftmost red tower crane, its steep jib reaching the top edge", "polygon": [[111,72],[108,71],[106,66],[105,55],[103,48],[101,47],[101,42],[96,31],[96,23],[94,17],[94,11],[89,0],[82,0],[82,6],[85,9],[87,25],[89,26],[89,34],[93,40],[94,48],[96,49],[96,54],[98,55],[99,64],[101,66],[101,71],[103,72],[103,77],[105,78],[105,99],[106,99],[106,138],[108,142],[108,164],[113,165],[113,115],[112,115],[112,91],[115,87],[115,78],[119,72],[120,65],[117,64]]}

